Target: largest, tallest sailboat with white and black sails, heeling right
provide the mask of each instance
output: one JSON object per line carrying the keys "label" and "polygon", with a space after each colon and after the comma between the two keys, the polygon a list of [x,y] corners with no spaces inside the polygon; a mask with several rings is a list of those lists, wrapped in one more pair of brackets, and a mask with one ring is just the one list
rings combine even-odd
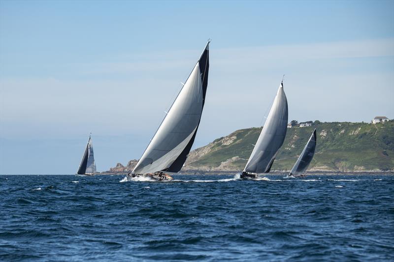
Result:
{"label": "largest, tallest sailboat with white and black sails, heeling right", "polygon": [[172,103],[130,177],[171,180],[178,173],[196,138],[208,85],[209,43]]}

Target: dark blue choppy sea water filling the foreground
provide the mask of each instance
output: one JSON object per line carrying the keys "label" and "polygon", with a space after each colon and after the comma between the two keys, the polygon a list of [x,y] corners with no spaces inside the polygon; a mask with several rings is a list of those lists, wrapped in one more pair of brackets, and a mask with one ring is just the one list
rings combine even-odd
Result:
{"label": "dark blue choppy sea water filling the foreground", "polygon": [[394,175],[1,175],[0,261],[393,261]]}

